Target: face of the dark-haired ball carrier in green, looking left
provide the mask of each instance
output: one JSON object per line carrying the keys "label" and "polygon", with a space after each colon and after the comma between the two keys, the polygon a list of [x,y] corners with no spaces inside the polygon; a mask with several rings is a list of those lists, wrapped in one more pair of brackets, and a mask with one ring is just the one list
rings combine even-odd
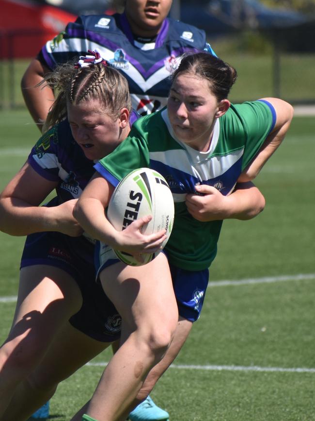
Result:
{"label": "face of the dark-haired ball carrier in green, looking left", "polygon": [[215,121],[229,108],[218,101],[206,79],[181,73],[173,81],[167,110],[177,138],[197,151],[209,149]]}

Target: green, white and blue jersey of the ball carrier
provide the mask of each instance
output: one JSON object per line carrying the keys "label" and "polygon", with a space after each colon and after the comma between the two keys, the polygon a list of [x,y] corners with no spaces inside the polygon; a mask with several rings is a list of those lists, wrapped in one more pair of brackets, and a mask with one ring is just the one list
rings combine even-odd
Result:
{"label": "green, white and blue jersey of the ball carrier", "polygon": [[175,202],[173,231],[165,247],[169,260],[182,269],[206,269],[216,256],[222,221],[194,219],[185,197],[195,193],[197,184],[215,186],[223,195],[231,193],[275,120],[275,110],[267,101],[231,105],[215,123],[209,150],[199,152],[176,138],[164,108],[137,120],[122,144],[94,168],[113,186],[136,168],[161,173]]}

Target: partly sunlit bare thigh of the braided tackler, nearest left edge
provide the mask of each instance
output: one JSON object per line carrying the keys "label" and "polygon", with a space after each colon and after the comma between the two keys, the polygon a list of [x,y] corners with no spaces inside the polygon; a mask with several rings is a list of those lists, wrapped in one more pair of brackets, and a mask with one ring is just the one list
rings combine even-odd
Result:
{"label": "partly sunlit bare thigh of the braided tackler, nearest left edge", "polygon": [[67,272],[47,265],[22,268],[15,316],[1,352],[16,363],[41,359],[81,304],[79,286]]}

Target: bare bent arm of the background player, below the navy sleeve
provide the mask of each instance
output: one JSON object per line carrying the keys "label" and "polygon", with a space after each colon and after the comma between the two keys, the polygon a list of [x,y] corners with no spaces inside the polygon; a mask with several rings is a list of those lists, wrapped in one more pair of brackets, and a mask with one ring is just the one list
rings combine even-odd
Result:
{"label": "bare bent arm of the background player, below the navy sleeve", "polygon": [[45,71],[47,69],[42,67],[38,60],[33,60],[21,80],[25,104],[40,131],[54,101],[50,87],[36,86],[43,81]]}

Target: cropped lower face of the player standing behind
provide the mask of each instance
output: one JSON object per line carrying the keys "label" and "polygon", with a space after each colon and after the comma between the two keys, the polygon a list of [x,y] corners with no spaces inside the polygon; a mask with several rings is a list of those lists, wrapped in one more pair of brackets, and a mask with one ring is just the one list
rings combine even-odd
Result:
{"label": "cropped lower face of the player standing behind", "polygon": [[125,13],[132,31],[155,36],[172,6],[172,0],[126,0]]}

